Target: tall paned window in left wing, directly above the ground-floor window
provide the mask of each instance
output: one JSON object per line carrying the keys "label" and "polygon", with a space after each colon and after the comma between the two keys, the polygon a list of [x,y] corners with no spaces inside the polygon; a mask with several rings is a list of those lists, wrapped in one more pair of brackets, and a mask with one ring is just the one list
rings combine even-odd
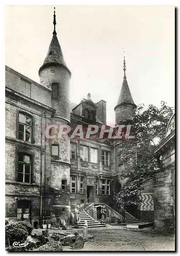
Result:
{"label": "tall paned window in left wing, directly above the ground-floor window", "polygon": [[17,181],[31,183],[31,157],[18,153]]}

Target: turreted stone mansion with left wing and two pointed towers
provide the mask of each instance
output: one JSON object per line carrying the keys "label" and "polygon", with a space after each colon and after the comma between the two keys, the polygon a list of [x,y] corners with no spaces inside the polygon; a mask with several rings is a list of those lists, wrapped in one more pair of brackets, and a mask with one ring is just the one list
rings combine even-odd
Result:
{"label": "turreted stone mansion with left wing and two pointed towers", "polygon": [[[91,94],[72,108],[71,71],[67,67],[55,30],[39,69],[40,83],[6,66],[6,218],[26,219],[34,227],[44,222],[71,221],[71,210],[84,202],[114,207],[113,189],[118,174],[120,144],[97,138],[69,136],[47,139],[49,125],[106,125],[106,102],[95,103]],[[115,106],[116,124],[130,123],[136,108],[124,78]],[[54,130],[52,129],[53,133]],[[154,190],[156,193],[156,190]],[[153,216],[153,186],[147,184],[136,217]],[[136,212],[136,214],[135,214]],[[153,218],[153,217],[152,217]]]}

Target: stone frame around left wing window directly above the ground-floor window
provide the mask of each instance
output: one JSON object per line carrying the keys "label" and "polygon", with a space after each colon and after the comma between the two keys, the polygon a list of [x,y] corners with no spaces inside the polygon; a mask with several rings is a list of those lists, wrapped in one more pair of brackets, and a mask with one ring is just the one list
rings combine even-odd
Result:
{"label": "stone frame around left wing window directly above the ground-floor window", "polygon": [[[24,153],[29,156],[31,156],[31,182],[21,182],[18,181],[18,154],[19,153]],[[35,156],[34,152],[32,150],[29,150],[28,148],[22,148],[22,147],[17,147],[16,148],[16,161],[15,161],[15,181],[20,183],[20,184],[34,184],[34,161],[35,161]]]}

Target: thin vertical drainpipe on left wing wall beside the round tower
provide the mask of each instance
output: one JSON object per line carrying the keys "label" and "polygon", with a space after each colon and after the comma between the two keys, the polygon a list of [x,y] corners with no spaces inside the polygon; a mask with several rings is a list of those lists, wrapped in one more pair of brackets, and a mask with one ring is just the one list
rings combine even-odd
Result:
{"label": "thin vertical drainpipe on left wing wall beside the round tower", "polygon": [[40,216],[39,216],[40,226],[42,225],[43,115],[44,115],[44,110],[41,113]]}

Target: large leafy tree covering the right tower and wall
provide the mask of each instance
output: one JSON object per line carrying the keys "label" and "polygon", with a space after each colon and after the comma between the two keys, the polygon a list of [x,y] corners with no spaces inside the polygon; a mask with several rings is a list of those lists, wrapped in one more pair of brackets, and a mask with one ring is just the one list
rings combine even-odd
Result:
{"label": "large leafy tree covering the right tower and wall", "polygon": [[150,104],[144,110],[144,105],[141,104],[134,111],[130,123],[136,136],[119,144],[119,180],[123,184],[120,191],[115,194],[119,205],[126,206],[139,202],[143,184],[153,178],[152,170],[158,167],[158,161],[153,153],[154,147],[164,139],[173,113],[174,108],[164,101],[161,101],[159,109]]}

